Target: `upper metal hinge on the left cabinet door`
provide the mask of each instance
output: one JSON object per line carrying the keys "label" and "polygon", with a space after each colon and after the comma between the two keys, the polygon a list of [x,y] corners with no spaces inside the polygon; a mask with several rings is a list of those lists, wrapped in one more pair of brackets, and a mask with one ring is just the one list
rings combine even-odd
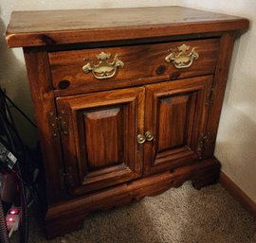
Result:
{"label": "upper metal hinge on the left cabinet door", "polygon": [[60,116],[57,116],[54,112],[49,112],[48,118],[51,133],[54,137],[57,137],[59,132],[64,133],[64,135],[68,134],[68,119],[64,110],[60,112]]}

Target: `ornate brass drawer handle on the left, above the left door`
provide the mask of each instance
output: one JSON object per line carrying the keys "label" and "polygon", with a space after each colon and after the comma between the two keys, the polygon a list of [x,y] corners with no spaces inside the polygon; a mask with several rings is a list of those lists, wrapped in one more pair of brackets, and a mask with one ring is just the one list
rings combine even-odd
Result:
{"label": "ornate brass drawer handle on the left, above the left door", "polygon": [[82,71],[85,74],[92,72],[93,76],[98,79],[114,77],[118,68],[122,68],[124,63],[119,60],[118,54],[116,54],[113,61],[108,61],[110,56],[110,53],[101,52],[96,56],[97,60],[99,60],[99,63],[96,65],[90,59],[84,59],[84,61],[88,61],[88,63],[82,67]]}

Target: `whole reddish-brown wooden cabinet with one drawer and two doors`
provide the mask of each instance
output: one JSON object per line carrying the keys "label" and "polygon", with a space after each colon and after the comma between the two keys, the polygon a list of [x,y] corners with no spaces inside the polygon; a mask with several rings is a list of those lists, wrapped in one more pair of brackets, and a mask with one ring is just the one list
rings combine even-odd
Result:
{"label": "whole reddish-brown wooden cabinet with one drawer and two doors", "polygon": [[[46,173],[46,234],[191,180],[213,157],[235,33],[246,19],[181,7],[17,11]],[[76,217],[74,217],[74,215]]]}

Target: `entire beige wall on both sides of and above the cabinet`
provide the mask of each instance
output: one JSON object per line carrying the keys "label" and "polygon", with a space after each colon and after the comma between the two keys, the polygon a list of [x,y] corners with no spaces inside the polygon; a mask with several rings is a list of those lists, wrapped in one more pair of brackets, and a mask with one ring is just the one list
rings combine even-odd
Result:
{"label": "entire beige wall on both sides of and above the cabinet", "polygon": [[[8,50],[4,32],[12,10],[18,9],[85,9],[139,6],[181,5],[194,9],[207,9],[247,17],[250,29],[234,46],[229,72],[228,90],[217,137],[215,156],[223,170],[256,202],[256,1],[254,0],[0,0],[0,82],[9,95],[32,117],[32,105],[21,49]],[[9,81],[8,83],[6,83]],[[35,141],[36,134],[23,119],[19,126],[27,143]]]}

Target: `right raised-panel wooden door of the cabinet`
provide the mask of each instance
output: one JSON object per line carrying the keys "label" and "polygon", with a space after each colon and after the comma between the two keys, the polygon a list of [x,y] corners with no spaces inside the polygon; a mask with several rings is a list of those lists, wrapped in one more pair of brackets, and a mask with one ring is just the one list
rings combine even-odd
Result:
{"label": "right raised-panel wooden door of the cabinet", "polygon": [[146,174],[200,158],[211,84],[207,76],[146,86],[145,130],[155,137],[144,144]]}

